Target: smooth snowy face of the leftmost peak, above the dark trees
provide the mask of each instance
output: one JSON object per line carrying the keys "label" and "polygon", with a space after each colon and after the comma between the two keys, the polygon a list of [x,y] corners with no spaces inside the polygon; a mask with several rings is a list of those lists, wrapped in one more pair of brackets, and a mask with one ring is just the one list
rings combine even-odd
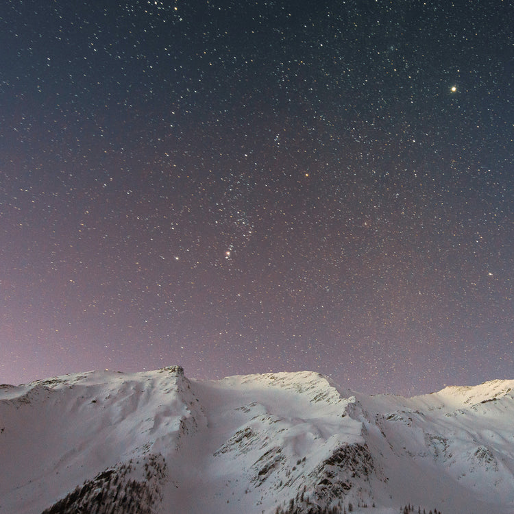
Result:
{"label": "smooth snowy face of the leftmost peak, above the dark trees", "polygon": [[0,392],[0,513],[40,512],[103,469],[173,454],[205,424],[188,388],[174,367],[59,377]]}

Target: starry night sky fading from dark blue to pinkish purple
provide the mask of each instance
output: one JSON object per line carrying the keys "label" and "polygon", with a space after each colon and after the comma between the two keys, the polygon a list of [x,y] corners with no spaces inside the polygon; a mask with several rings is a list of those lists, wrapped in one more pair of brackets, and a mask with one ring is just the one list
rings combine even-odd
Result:
{"label": "starry night sky fading from dark blue to pinkish purple", "polygon": [[513,378],[514,4],[3,0],[0,382]]}

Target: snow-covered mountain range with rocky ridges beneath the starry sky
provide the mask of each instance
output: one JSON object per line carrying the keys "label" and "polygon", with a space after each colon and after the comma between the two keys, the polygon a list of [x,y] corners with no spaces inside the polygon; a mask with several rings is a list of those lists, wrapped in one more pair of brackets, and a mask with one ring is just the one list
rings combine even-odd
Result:
{"label": "snow-covered mountain range with rocky ridges beneath the starry sky", "polygon": [[0,386],[1,514],[405,506],[514,512],[514,380],[404,398],[307,371],[197,381],[175,366]]}

